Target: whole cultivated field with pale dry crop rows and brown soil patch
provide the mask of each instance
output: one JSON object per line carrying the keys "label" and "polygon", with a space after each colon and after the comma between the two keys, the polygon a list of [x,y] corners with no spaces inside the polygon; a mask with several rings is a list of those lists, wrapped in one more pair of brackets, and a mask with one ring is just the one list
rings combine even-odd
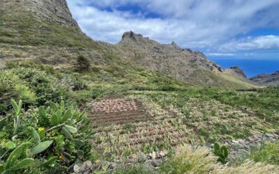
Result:
{"label": "whole cultivated field with pale dry crop rows and brown soil patch", "polygon": [[[110,157],[274,131],[252,109],[236,109],[217,100],[177,92],[133,91],[126,100],[104,100],[93,106],[93,149]],[[144,108],[144,116],[133,115],[141,111],[139,107]]]}

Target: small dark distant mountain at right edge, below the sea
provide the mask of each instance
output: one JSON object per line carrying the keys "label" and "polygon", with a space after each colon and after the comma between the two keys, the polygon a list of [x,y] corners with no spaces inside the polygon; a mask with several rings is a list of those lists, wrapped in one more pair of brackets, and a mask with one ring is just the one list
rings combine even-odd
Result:
{"label": "small dark distant mountain at right edge, below the sea", "polygon": [[259,74],[250,78],[250,80],[266,86],[279,85],[279,71],[273,72],[272,74]]}

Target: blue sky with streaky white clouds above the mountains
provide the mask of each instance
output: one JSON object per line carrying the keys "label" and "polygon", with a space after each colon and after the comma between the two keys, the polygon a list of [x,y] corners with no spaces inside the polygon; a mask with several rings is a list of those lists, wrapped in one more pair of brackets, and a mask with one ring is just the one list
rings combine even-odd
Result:
{"label": "blue sky with streaky white clouds above the mountains", "polygon": [[67,2],[82,31],[93,40],[114,44],[124,32],[134,31],[160,43],[174,41],[202,51],[220,64],[273,61],[279,70],[279,0]]}

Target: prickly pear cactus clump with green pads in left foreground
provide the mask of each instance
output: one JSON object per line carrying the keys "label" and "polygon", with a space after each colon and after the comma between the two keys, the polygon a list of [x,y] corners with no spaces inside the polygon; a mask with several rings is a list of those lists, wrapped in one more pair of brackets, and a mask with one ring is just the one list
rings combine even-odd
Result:
{"label": "prickly pear cactus clump with green pads in left foreground", "polygon": [[89,154],[89,122],[84,113],[73,106],[67,109],[63,100],[27,112],[22,110],[22,100],[11,104],[13,112],[0,121],[0,173],[62,173]]}

